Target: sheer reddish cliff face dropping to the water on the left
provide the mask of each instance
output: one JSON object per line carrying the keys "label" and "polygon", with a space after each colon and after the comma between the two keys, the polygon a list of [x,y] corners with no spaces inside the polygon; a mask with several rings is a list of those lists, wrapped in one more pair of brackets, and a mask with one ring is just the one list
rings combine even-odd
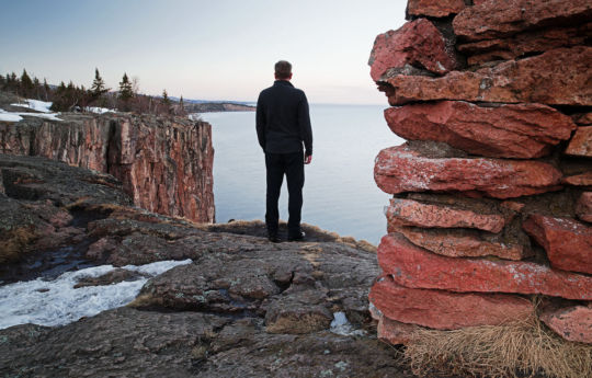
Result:
{"label": "sheer reddish cliff face dropping to the water on the left", "polygon": [[209,124],[130,114],[60,117],[64,122],[0,122],[0,153],[41,156],[110,173],[139,207],[215,220]]}

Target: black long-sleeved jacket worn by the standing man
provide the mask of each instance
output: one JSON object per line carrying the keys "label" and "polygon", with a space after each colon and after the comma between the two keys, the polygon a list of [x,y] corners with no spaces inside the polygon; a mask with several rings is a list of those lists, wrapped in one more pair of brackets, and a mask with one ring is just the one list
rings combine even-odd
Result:
{"label": "black long-sleeved jacket worn by the standing man", "polygon": [[312,129],[305,93],[289,81],[276,80],[257,101],[257,136],[265,152],[312,154]]}

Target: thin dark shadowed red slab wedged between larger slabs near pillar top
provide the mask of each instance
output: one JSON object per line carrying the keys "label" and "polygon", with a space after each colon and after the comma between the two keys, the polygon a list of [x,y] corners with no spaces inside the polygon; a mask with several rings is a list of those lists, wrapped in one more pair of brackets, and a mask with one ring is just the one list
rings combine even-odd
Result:
{"label": "thin dark shadowed red slab wedged between larger slabs near pillar top", "polygon": [[469,65],[493,60],[511,60],[525,54],[544,53],[559,47],[585,45],[592,23],[580,26],[542,28],[520,33],[506,38],[486,39],[459,44],[458,51],[467,55]]}

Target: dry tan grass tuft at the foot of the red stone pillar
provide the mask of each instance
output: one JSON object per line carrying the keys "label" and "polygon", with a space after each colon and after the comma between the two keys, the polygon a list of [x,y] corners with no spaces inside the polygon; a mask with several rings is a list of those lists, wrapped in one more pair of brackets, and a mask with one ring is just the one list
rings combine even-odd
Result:
{"label": "dry tan grass tuft at the foot of the red stone pillar", "polygon": [[405,358],[421,377],[592,377],[592,345],[561,339],[535,314],[504,325],[418,330]]}

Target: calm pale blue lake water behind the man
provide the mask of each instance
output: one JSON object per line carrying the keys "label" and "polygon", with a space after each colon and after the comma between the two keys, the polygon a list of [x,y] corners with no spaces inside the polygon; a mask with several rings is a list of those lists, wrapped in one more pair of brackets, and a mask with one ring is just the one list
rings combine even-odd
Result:
{"label": "calm pale blue lake water behind the man", "polygon": [[[303,222],[378,243],[386,233],[383,207],[389,196],[374,183],[374,158],[403,140],[390,131],[385,106],[310,106],[312,163],[306,165]],[[216,220],[264,219],[265,161],[254,112],[206,113],[212,124]],[[287,220],[284,181],[280,216]]]}

